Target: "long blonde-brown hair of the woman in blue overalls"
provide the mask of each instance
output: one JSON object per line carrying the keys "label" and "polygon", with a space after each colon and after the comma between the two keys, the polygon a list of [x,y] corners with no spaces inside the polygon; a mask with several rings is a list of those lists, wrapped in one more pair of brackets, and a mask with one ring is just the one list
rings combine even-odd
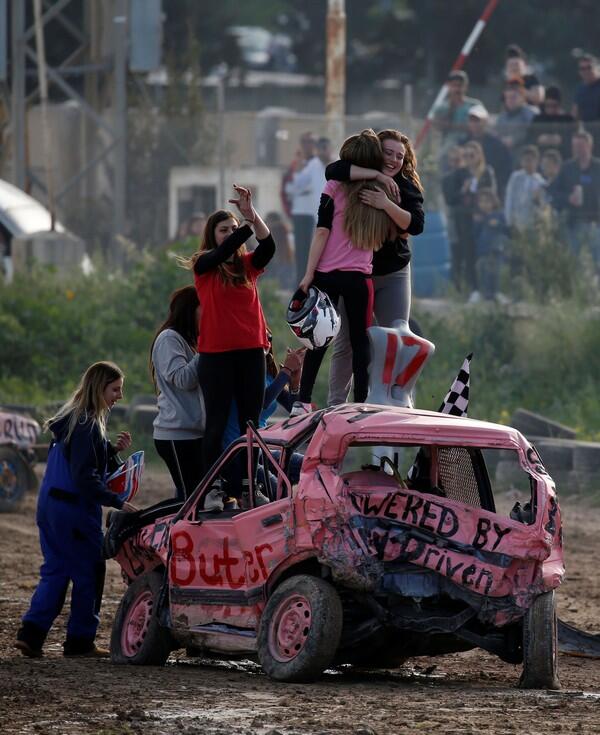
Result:
{"label": "long blonde-brown hair of the woman in blue overalls", "polygon": [[44,431],[51,428],[52,424],[69,416],[69,427],[65,442],[68,442],[77,424],[95,421],[100,429],[100,434],[106,437],[106,422],[108,420],[109,407],[104,400],[104,391],[110,383],[123,378],[124,374],[114,362],[103,360],[89,366],[81,376],[77,388],[70,398],[58,411],[46,419]]}

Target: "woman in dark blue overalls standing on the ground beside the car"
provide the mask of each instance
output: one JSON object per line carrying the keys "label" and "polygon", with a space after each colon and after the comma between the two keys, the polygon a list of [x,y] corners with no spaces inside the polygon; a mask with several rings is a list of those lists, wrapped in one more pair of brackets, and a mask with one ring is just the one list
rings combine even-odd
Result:
{"label": "woman in dark blue overalls standing on the ground beside the car", "polygon": [[45,424],[54,439],[36,516],[44,563],[15,644],[25,656],[42,655],[69,582],[73,586],[64,655],[108,655],[94,643],[105,572],[102,506],[133,510],[105,481],[120,464],[117,452],[131,444],[128,432],[119,434],[114,447],[106,436],[110,409],[122,397],[121,370],[111,362],[94,363],[67,403]]}

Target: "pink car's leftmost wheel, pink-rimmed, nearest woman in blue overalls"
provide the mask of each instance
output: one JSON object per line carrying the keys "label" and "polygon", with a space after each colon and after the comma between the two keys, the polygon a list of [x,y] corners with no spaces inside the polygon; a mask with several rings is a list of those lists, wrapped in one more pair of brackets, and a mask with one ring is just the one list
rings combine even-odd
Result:
{"label": "pink car's leftmost wheel, pink-rimmed, nearest woman in blue overalls", "polygon": [[110,657],[115,664],[162,666],[173,649],[171,634],[158,622],[160,572],[148,572],[127,588],[115,615]]}

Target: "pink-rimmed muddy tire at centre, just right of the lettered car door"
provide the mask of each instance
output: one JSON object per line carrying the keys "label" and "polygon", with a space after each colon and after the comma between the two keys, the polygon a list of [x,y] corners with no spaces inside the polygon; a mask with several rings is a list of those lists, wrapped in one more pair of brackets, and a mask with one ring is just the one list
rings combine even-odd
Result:
{"label": "pink-rimmed muddy tire at centre, just right of the lettered car door", "polygon": [[263,669],[278,681],[314,681],[335,657],[342,623],[342,602],[329,582],[304,574],[286,579],[260,620]]}

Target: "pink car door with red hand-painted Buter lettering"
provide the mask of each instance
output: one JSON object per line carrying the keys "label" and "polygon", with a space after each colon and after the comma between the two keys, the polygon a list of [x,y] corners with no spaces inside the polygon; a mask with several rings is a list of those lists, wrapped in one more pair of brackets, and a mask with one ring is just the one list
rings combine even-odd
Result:
{"label": "pink car door with red hand-painted Buter lettering", "polygon": [[285,497],[245,511],[201,510],[213,480],[231,463],[250,460],[249,476],[254,476],[256,449],[257,440],[249,434],[245,444],[227,452],[199,489],[196,502],[171,528],[169,587],[175,627],[225,625],[235,630],[257,625],[270,570],[289,554],[290,534],[285,533],[292,522],[289,481],[264,447],[262,456],[271,472],[280,484],[287,483]]}

